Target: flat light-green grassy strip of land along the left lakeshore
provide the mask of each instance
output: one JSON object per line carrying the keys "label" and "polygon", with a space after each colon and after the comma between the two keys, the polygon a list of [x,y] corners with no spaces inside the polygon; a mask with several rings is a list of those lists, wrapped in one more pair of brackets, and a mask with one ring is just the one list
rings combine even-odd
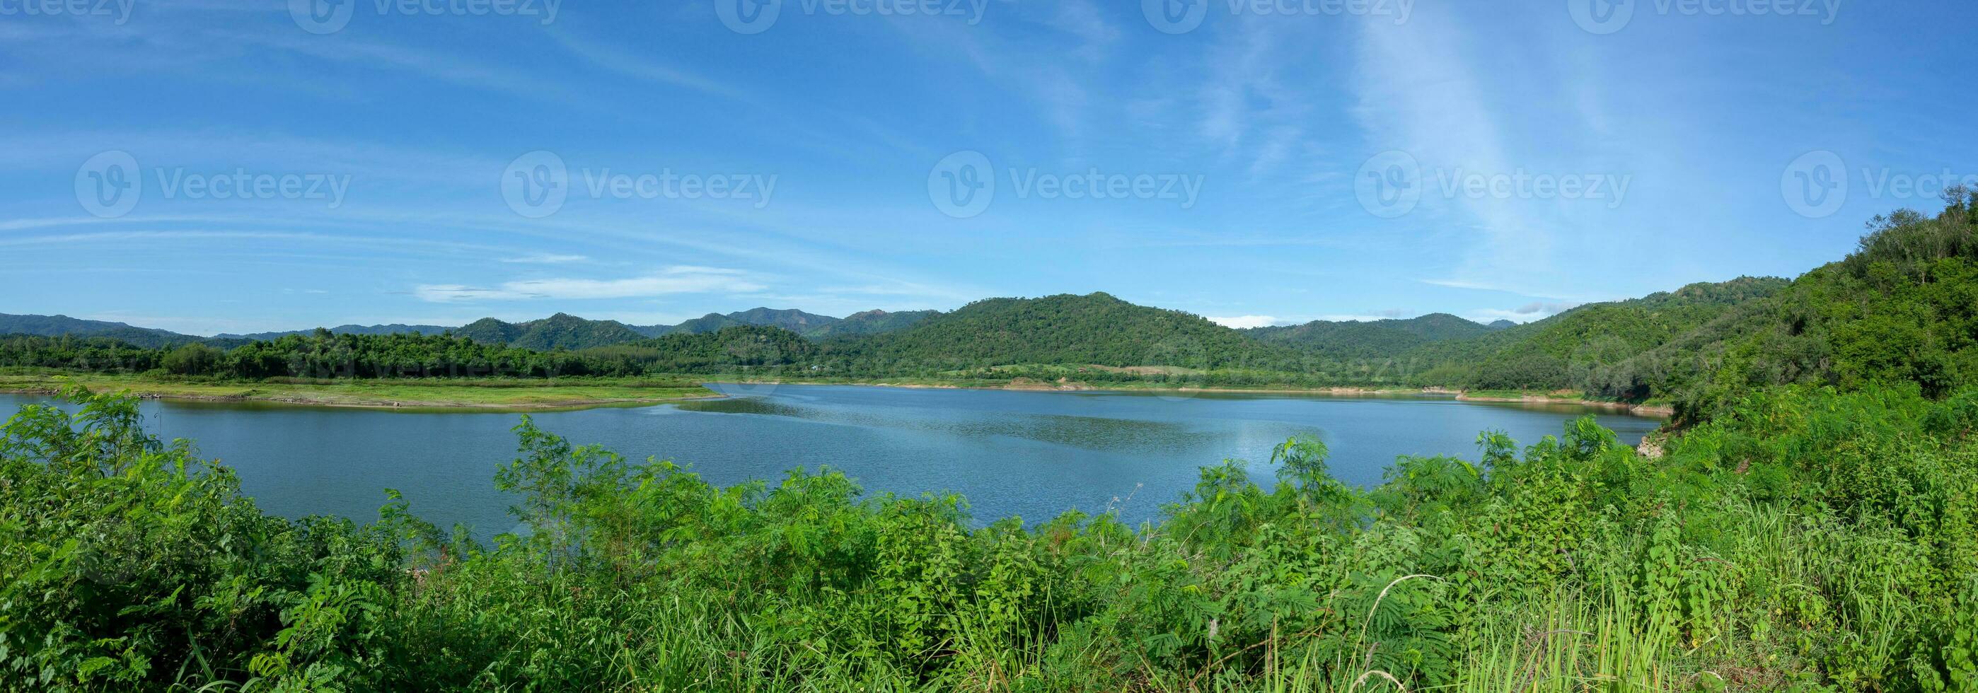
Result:
{"label": "flat light-green grassy strip of land along the left lakeshore", "polygon": [[0,391],[4,393],[53,393],[63,385],[81,385],[101,393],[129,391],[140,397],[378,409],[572,409],[720,397],[692,381],[676,379],[198,381],[109,373],[0,375]]}

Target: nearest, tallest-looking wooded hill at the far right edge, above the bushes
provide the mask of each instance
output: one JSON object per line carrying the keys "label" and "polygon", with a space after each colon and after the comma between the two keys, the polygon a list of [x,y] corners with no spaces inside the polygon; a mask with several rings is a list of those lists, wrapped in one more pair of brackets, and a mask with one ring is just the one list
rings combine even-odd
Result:
{"label": "nearest, tallest-looking wooded hill at the far right edge, above the bushes", "polygon": [[1669,393],[1701,417],[1764,385],[1913,383],[1927,397],[1978,385],[1978,193],[1958,193],[1934,217],[1875,217],[1847,259],[1602,369],[1588,391]]}

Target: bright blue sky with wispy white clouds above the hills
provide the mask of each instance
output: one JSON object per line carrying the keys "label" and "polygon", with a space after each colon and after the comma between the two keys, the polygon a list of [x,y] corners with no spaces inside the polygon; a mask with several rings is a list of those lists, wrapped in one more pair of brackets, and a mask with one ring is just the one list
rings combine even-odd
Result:
{"label": "bright blue sky with wispy white clouds above the hills", "polygon": [[1952,0],[316,2],[0,0],[0,312],[1523,322],[1978,180]]}

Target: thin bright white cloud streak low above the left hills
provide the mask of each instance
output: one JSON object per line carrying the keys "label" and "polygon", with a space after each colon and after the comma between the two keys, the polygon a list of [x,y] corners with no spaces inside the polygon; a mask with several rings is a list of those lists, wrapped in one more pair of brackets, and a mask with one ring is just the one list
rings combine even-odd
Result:
{"label": "thin bright white cloud streak low above the left hills", "polygon": [[467,300],[584,300],[584,298],[643,298],[665,294],[724,294],[760,292],[767,286],[742,270],[720,267],[669,267],[661,272],[631,278],[530,278],[500,286],[419,284],[413,296],[427,302]]}

